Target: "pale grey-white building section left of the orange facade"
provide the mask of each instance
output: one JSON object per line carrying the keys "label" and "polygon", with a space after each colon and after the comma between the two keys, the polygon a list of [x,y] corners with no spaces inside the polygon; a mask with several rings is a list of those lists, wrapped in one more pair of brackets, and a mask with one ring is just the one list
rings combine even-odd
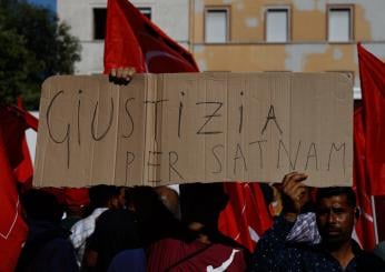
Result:
{"label": "pale grey-white building section left of the orange facade", "polygon": [[[188,47],[188,0],[136,0],[131,3],[168,36]],[[71,27],[71,33],[81,42],[81,61],[77,63],[76,72],[102,72],[107,0],[58,0],[57,6],[59,19]]]}

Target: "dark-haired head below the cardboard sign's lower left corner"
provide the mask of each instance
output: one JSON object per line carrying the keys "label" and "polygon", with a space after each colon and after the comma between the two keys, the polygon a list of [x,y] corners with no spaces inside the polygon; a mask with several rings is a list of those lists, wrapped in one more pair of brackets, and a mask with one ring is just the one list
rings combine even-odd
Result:
{"label": "dark-haired head below the cardboard sign's lower left corner", "polygon": [[57,198],[43,190],[31,189],[27,191],[21,202],[24,208],[27,220],[49,221],[59,223],[63,209]]}

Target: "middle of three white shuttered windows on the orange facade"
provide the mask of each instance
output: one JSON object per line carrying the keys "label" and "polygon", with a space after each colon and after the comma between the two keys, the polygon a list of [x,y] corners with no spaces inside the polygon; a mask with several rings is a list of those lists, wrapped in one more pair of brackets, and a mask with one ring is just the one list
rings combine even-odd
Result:
{"label": "middle of three white shuttered windows on the orange facade", "polygon": [[287,42],[289,40],[289,9],[268,8],[265,13],[267,42]]}

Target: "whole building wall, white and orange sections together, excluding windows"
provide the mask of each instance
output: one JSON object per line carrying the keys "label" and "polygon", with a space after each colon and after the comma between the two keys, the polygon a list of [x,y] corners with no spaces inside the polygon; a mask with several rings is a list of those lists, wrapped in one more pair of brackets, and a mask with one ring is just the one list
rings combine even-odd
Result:
{"label": "whole building wall, white and orange sections together, excluding windows", "polygon": [[[201,71],[353,71],[356,87],[356,42],[385,60],[385,0],[132,0],[154,8],[152,20],[194,53]],[[103,42],[92,40],[92,7],[107,0],[58,0],[58,14],[82,43],[78,73],[102,70]],[[348,43],[327,42],[327,7],[353,6],[354,36]],[[290,40],[265,42],[265,9],[289,7]],[[229,41],[205,43],[205,8],[230,11]]]}

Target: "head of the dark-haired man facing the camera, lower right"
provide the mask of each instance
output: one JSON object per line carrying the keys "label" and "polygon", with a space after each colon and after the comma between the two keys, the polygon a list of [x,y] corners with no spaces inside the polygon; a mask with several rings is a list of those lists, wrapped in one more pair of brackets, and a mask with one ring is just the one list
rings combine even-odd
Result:
{"label": "head of the dark-haired man facing the camera, lower right", "polygon": [[316,198],[316,215],[318,230],[325,244],[339,248],[348,242],[359,216],[356,195],[352,188],[319,189]]}

